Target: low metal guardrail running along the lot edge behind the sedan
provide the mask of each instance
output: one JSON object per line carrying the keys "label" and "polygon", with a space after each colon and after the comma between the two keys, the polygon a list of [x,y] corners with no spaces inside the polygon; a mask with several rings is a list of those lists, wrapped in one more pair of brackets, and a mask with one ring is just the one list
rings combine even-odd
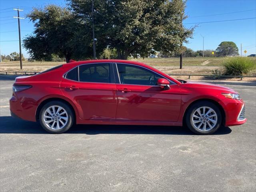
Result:
{"label": "low metal guardrail running along the lot edge behind the sedan", "polygon": [[[30,71],[22,71],[22,72],[16,72],[16,71],[0,71],[0,74],[6,74],[8,75],[8,73],[10,74],[25,74],[25,75],[28,75],[28,74],[38,74],[40,72],[30,72]],[[137,76],[139,76],[140,74],[137,74]],[[256,76],[240,76],[240,75],[196,75],[196,74],[168,74],[170,76],[188,76],[188,79],[190,79],[191,76],[201,76],[201,77],[214,77],[214,78],[217,78],[217,77],[236,77],[236,78],[241,78],[241,80],[243,80],[244,77],[252,77],[252,78],[256,78]]]}

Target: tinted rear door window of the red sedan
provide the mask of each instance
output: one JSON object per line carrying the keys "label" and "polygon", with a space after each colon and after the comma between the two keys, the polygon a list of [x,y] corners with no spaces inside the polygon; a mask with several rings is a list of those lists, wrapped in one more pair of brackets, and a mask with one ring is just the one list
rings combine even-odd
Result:
{"label": "tinted rear door window of the red sedan", "polygon": [[109,64],[85,64],[79,66],[79,81],[110,83]]}

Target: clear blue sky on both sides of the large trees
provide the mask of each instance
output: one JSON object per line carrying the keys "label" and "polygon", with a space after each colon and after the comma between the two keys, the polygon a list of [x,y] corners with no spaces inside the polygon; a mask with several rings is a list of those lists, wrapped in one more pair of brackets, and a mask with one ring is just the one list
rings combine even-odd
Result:
{"label": "clear blue sky on both sides of the large trees", "polygon": [[[64,6],[66,2],[65,0],[0,0],[0,49],[2,55],[14,51],[19,52],[18,41],[12,41],[18,40],[18,21],[12,18],[12,16],[17,16],[17,11],[12,8],[20,6],[21,9],[24,9],[23,12],[20,12],[20,17],[22,17],[30,12],[33,6],[46,4]],[[184,21],[184,25],[188,28],[196,25],[189,23],[255,18],[256,0],[188,0],[186,14],[188,18]],[[20,25],[22,38],[33,30],[33,24],[28,19],[21,20]],[[198,24],[193,38],[189,39],[189,43],[185,46],[193,50],[202,50],[201,35],[204,36],[205,50],[215,50],[222,41],[233,41],[238,46],[239,53],[241,43],[242,51],[247,50],[246,55],[256,53],[256,19]],[[24,48],[22,48],[22,53],[25,57],[29,57]]]}

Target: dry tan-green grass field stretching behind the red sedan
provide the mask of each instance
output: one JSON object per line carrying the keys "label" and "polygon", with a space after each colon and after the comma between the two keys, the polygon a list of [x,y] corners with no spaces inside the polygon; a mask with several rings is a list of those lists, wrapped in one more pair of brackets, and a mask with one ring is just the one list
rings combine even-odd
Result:
{"label": "dry tan-green grass field stretching behind the red sedan", "polygon": [[[183,68],[179,69],[180,58],[138,58],[132,61],[146,63],[154,66],[167,74],[200,74],[212,75],[213,70],[221,70],[221,63],[225,58],[183,58]],[[256,59],[256,58],[253,58]],[[41,72],[53,66],[64,64],[65,62],[28,62],[23,61],[23,69],[20,70],[20,62],[2,62],[0,72]]]}

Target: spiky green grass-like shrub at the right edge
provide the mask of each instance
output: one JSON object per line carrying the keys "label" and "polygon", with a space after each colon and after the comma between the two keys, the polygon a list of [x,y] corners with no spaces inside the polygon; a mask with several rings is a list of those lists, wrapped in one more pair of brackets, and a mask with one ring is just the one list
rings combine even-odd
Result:
{"label": "spiky green grass-like shrub at the right edge", "polygon": [[222,62],[225,75],[246,75],[256,69],[256,60],[246,57],[232,57]]}

